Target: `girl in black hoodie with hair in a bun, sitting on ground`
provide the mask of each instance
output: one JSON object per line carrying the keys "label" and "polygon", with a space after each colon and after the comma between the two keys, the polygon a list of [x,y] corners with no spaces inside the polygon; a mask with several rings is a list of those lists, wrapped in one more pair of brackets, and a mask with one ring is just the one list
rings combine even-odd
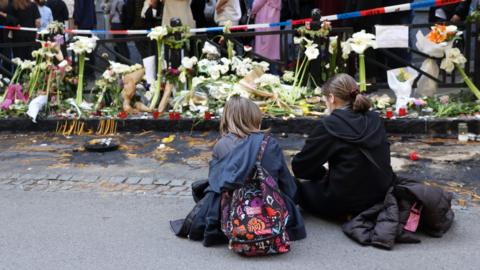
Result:
{"label": "girl in black hoodie with hair in a bun, sitting on ground", "polygon": [[369,111],[371,102],[359,94],[355,79],[338,74],[322,90],[331,115],[318,122],[292,160],[295,177],[303,179],[298,200],[316,215],[356,215],[383,201],[393,182],[390,145],[380,117]]}

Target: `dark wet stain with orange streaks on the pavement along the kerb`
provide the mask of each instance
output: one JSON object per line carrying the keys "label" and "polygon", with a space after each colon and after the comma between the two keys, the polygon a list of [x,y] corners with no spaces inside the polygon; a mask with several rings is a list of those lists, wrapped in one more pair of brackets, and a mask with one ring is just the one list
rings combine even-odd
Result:
{"label": "dark wet stain with orange streaks on the pavement along the kerb", "polygon": [[[162,142],[171,135],[175,135],[171,142]],[[85,151],[83,145],[102,137],[0,132],[0,170],[20,174],[90,174],[98,175],[99,182],[110,176],[192,182],[207,177],[211,150],[219,134],[144,132],[110,137],[118,140],[119,150],[92,153]],[[302,148],[305,136],[275,134],[275,137],[290,164]],[[457,200],[480,203],[480,143],[460,144],[454,139],[410,136],[393,136],[390,141],[392,163],[397,163],[393,165],[398,175],[441,186],[457,194]],[[418,161],[409,159],[411,151],[418,153]],[[106,191],[118,189],[109,182],[102,187]]]}

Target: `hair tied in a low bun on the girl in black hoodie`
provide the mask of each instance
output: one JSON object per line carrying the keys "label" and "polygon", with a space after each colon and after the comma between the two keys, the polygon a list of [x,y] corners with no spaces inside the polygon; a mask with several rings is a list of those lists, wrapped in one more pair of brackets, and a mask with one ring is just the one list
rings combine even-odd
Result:
{"label": "hair tied in a low bun on the girl in black hoodie", "polygon": [[354,112],[367,112],[372,107],[372,102],[360,94],[355,79],[345,73],[337,74],[330,78],[322,87],[325,96],[332,94],[334,97],[352,106]]}

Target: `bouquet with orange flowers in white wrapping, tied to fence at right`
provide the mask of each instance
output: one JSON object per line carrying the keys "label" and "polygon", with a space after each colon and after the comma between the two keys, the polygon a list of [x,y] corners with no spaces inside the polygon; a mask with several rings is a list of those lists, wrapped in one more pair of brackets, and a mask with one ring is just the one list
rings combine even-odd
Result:
{"label": "bouquet with orange flowers in white wrapping, tied to fence at right", "polygon": [[[454,25],[435,25],[431,27],[431,31],[425,36],[421,31],[417,32],[416,46],[419,51],[429,55],[430,57],[443,58],[445,52],[452,48],[453,41],[462,34]],[[434,59],[427,58],[421,69],[434,77],[438,77],[440,69]],[[437,83],[425,76],[418,81],[417,93],[421,96],[433,96],[437,90]]]}

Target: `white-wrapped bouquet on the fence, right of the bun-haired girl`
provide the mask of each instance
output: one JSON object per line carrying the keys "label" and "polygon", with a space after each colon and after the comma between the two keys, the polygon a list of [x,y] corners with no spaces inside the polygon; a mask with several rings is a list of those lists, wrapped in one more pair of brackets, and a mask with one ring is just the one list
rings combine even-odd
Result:
{"label": "white-wrapped bouquet on the fence, right of the bun-haired girl", "polygon": [[[402,82],[398,80],[398,75],[401,71],[409,74],[409,78]],[[418,72],[410,67],[391,69],[387,71],[388,86],[397,96],[397,102],[395,104],[396,111],[402,107],[406,107],[410,95],[412,94],[412,85],[415,79],[418,77]]]}

